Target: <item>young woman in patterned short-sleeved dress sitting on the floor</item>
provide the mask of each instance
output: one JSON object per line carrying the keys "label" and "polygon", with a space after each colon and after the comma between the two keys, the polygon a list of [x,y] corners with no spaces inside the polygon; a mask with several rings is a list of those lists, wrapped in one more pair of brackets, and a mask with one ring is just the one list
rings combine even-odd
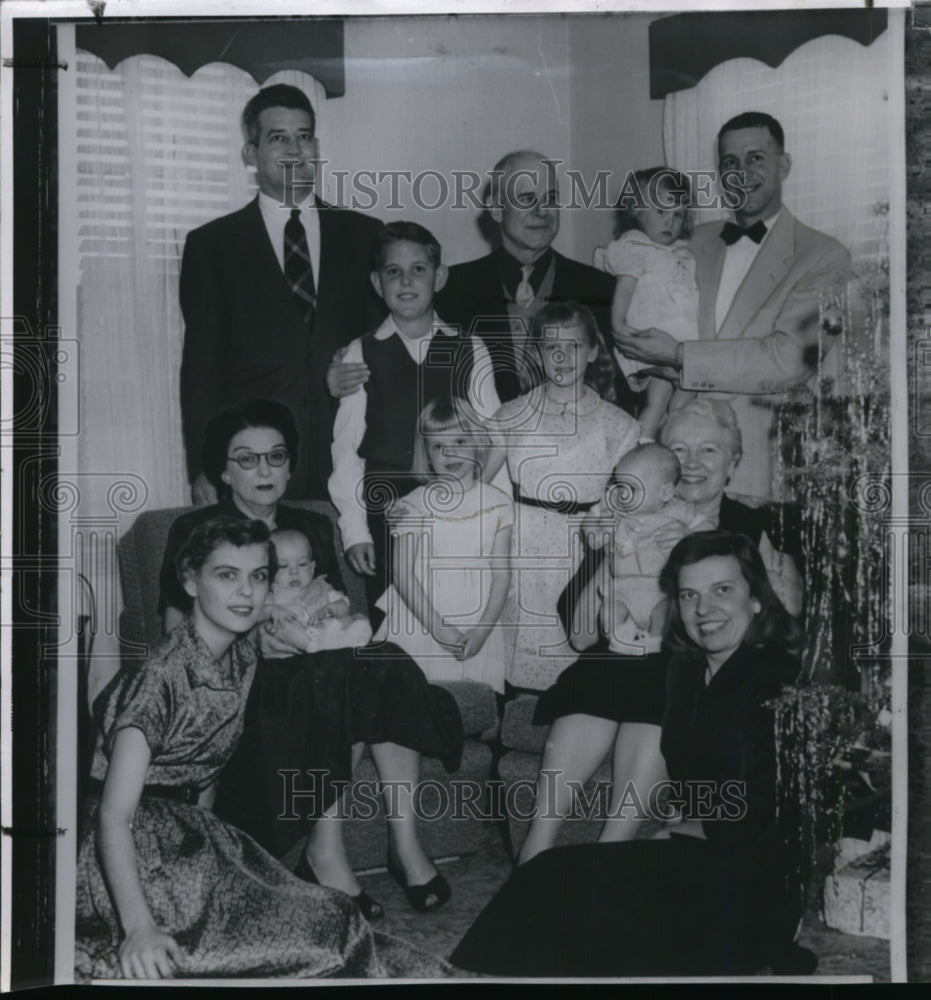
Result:
{"label": "young woman in patterned short-sleeved dress sitting on the floor", "polygon": [[242,732],[268,529],[221,518],[179,554],[186,617],[95,703],[76,883],[80,978],[444,975],[349,898],[295,878],[210,809]]}

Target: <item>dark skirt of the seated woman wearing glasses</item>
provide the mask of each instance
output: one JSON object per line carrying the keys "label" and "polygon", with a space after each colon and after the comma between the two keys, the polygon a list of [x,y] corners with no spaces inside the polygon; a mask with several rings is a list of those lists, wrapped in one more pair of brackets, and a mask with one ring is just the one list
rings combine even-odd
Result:
{"label": "dark skirt of the seated woman wearing glasses", "polygon": [[449,771],[459,766],[462,720],[452,695],[397,647],[364,654],[323,650],[259,663],[214,810],[272,854],[306,834],[351,781],[354,743],[397,743]]}

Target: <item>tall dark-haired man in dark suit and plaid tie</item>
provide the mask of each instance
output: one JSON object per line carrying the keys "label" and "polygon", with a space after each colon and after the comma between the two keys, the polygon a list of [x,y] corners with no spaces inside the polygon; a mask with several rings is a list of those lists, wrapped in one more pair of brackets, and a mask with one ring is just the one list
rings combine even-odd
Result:
{"label": "tall dark-haired man in dark suit and plaid tie", "polygon": [[194,502],[215,500],[200,466],[207,421],[254,397],[285,403],[297,421],[301,455],[288,495],[325,499],[325,374],[334,352],[384,314],[368,277],[379,223],[313,195],[316,119],[300,90],[260,90],[242,126],[259,194],[189,233],[181,262],[181,412]]}

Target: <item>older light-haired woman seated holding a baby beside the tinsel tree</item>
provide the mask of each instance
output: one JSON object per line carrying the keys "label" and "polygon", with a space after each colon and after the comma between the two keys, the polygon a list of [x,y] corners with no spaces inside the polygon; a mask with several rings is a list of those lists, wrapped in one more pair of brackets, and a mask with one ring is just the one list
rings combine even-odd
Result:
{"label": "older light-haired woman seated holding a baby beside the tinsel tree", "polygon": [[[679,459],[682,478],[676,492],[719,528],[746,535],[761,551],[770,582],[793,614],[801,609],[801,587],[794,557],[799,558],[801,531],[789,507],[749,507],[724,493],[728,478],[741,456],[740,427],[725,400],[693,400],[674,410],[660,430],[660,441]],[[675,537],[667,544],[671,545]],[[784,555],[783,552],[788,553]],[[541,771],[555,771],[555,781],[539,781],[536,817],[521,846],[519,861],[556,843],[571,806],[570,781],[581,786],[612,748],[614,786],[602,841],[631,840],[642,818],[628,812],[618,816],[618,806],[629,782],[649,786],[664,775],[659,752],[660,721],[665,698],[664,664],[660,654],[642,658],[621,657],[608,650],[607,641],[594,631],[584,634],[581,620],[597,622],[586,600],[594,600],[594,587],[603,551],[590,553],[567,588],[580,595],[573,615],[579,660],[541,695],[535,710],[537,725],[551,723]],[[587,647],[587,648],[586,648]],[[552,796],[552,800],[550,799]]]}

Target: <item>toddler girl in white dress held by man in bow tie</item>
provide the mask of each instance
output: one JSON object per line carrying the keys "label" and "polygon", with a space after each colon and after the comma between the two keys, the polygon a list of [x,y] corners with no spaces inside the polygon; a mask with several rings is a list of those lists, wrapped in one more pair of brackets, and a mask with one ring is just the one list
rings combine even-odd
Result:
{"label": "toddler girl in white dress held by man in bow tie", "polygon": [[[605,251],[605,270],[617,277],[611,325],[618,331],[655,327],[680,341],[698,340],[695,256],[688,247],[688,178],[667,167],[650,167],[638,170],[634,180],[637,197],[626,189],[622,194],[617,239]],[[618,362],[631,388],[646,389],[639,419],[644,437],[653,438],[673,384],[661,378],[638,378],[645,367],[639,361],[618,354]]]}

